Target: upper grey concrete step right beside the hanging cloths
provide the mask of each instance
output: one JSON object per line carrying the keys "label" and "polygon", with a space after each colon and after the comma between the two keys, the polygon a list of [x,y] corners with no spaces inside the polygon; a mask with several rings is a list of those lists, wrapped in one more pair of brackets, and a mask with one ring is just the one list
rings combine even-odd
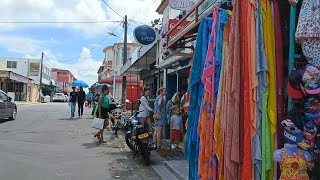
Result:
{"label": "upper grey concrete step right beside the hanging cloths", "polygon": [[180,180],[189,179],[189,164],[186,160],[165,161],[165,167]]}

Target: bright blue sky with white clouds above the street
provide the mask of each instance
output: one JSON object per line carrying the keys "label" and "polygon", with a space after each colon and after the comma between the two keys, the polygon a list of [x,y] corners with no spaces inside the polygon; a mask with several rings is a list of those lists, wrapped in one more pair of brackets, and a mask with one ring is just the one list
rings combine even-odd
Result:
{"label": "bright blue sky with white clouds above the street", "polygon": [[[136,26],[150,25],[160,17],[155,11],[161,0],[104,1],[119,15],[103,0],[1,0],[0,56],[40,59],[44,52],[44,62],[51,67],[68,69],[77,79],[95,83],[102,50],[122,41],[121,16],[129,19],[129,42]],[[112,31],[119,37],[109,36]]]}

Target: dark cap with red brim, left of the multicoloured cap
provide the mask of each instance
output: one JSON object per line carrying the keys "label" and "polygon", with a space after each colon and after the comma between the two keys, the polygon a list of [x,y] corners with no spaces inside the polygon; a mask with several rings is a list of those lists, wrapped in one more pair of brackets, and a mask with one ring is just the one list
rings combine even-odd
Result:
{"label": "dark cap with red brim, left of the multicoloured cap", "polygon": [[294,99],[303,98],[303,91],[301,89],[302,73],[300,69],[293,69],[288,81],[288,95]]}

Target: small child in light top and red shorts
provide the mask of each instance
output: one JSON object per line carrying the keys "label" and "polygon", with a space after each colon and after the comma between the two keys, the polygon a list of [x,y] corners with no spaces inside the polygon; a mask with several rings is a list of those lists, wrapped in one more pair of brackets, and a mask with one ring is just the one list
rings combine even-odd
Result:
{"label": "small child in light top and red shorts", "polygon": [[171,124],[170,124],[170,129],[171,129],[170,141],[171,142],[170,143],[171,143],[171,149],[175,149],[180,142],[181,133],[183,132],[183,121],[180,115],[180,107],[173,106],[172,110],[174,115],[171,117]]}

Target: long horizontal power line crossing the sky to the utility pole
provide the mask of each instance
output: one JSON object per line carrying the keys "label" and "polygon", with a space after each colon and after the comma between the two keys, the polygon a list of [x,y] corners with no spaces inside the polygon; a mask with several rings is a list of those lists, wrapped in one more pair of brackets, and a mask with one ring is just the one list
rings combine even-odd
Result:
{"label": "long horizontal power line crossing the sky to the utility pole", "polygon": [[0,24],[98,24],[119,22],[122,21],[0,21]]}

